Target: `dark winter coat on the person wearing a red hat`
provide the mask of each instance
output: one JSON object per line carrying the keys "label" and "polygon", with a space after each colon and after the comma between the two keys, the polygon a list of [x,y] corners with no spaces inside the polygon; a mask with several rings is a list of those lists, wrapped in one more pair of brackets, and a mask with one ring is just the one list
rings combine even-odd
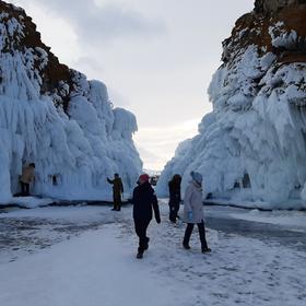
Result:
{"label": "dark winter coat on the person wearing a red hat", "polygon": [[134,188],[132,203],[134,220],[150,222],[153,216],[153,208],[156,222],[161,222],[158,201],[150,183],[144,183]]}

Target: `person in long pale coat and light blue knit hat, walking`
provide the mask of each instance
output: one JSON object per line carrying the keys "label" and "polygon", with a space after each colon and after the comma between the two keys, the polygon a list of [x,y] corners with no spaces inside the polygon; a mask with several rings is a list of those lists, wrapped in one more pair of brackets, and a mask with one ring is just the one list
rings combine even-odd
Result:
{"label": "person in long pale coat and light blue knit hat, walking", "polygon": [[202,175],[197,172],[191,172],[192,180],[189,183],[184,197],[184,221],[187,223],[183,246],[190,249],[189,240],[193,231],[195,224],[198,225],[202,252],[210,252],[205,238],[203,202],[202,202]]}

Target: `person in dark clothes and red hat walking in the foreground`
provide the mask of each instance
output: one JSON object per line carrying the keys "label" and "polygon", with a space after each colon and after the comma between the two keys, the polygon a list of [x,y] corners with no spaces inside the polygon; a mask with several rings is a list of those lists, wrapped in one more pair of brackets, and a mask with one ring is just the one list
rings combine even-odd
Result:
{"label": "person in dark clothes and red hat walking in the foreground", "polygon": [[133,190],[133,221],[134,231],[139,237],[139,247],[137,258],[142,258],[143,252],[149,248],[150,238],[146,236],[146,228],[154,215],[156,222],[161,223],[158,201],[155,196],[154,189],[149,183],[149,175],[142,174],[138,179],[138,186]]}

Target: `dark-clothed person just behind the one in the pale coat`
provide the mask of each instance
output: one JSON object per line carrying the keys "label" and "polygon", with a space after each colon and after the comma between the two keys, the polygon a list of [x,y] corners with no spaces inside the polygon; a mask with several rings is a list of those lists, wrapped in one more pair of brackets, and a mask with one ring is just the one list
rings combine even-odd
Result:
{"label": "dark-clothed person just behind the one in the pale coat", "polygon": [[180,183],[181,176],[176,174],[173,176],[172,180],[168,183],[169,187],[169,221],[176,223],[179,211],[180,203]]}

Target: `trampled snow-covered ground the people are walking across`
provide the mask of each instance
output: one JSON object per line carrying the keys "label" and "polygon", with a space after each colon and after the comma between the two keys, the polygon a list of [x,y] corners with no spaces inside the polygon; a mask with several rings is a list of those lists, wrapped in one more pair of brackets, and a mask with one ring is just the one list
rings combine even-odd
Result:
{"label": "trampled snow-covered ground the people are walking across", "polygon": [[212,217],[244,214],[214,207],[205,208],[212,254],[200,252],[198,233],[188,251],[181,248],[185,226],[167,221],[165,201],[161,210],[143,260],[134,257],[131,207],[0,214],[0,240],[8,234],[14,242],[0,247],[0,305],[304,305],[305,251],[211,229]]}

